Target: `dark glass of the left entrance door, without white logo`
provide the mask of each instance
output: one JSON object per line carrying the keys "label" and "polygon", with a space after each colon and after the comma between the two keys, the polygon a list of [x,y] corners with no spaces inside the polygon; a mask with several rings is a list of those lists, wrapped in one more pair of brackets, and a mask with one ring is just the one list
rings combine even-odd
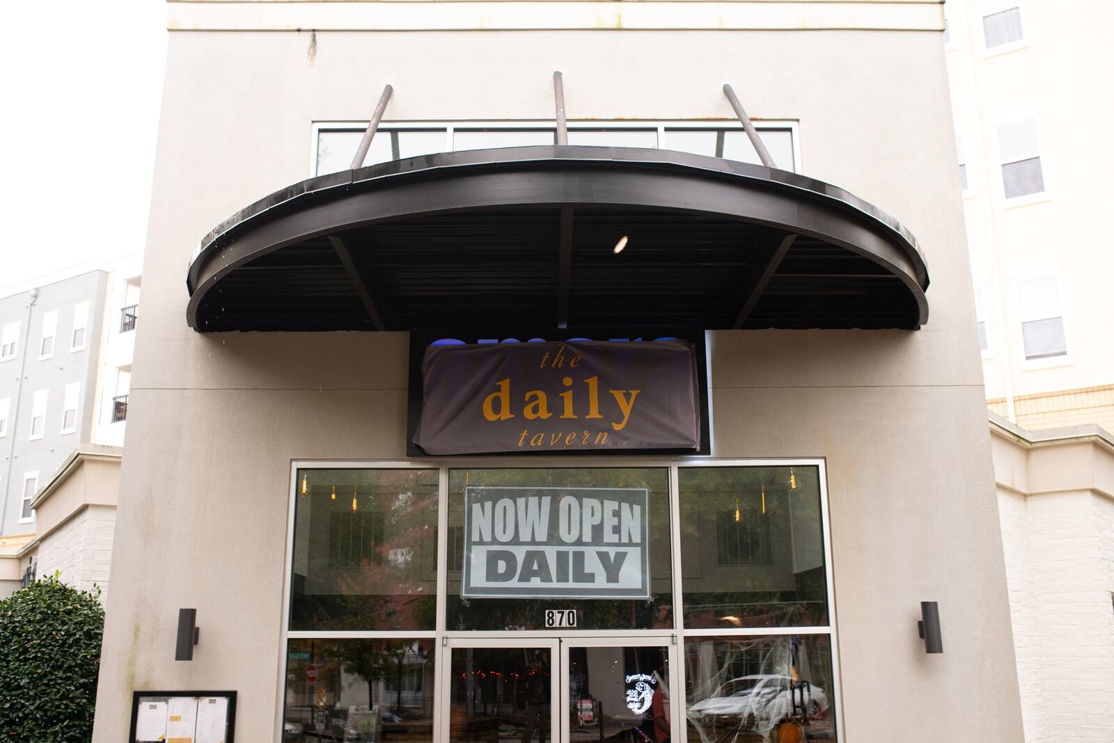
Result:
{"label": "dark glass of the left entrance door, without white logo", "polygon": [[449,740],[553,741],[553,675],[546,647],[452,648]]}

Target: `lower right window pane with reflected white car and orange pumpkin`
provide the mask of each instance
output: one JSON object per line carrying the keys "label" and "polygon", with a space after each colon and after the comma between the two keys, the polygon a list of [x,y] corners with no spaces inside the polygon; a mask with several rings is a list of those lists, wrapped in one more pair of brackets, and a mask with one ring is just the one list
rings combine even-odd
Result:
{"label": "lower right window pane with reflected white car and orange pumpkin", "polygon": [[685,641],[690,743],[836,740],[828,635]]}

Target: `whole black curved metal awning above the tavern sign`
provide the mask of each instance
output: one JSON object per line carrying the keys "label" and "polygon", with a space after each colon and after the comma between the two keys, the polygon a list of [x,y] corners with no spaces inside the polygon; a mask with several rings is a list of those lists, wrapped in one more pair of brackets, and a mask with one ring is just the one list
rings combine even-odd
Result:
{"label": "whole black curved metal awning above the tavern sign", "polygon": [[209,232],[187,285],[199,331],[928,318],[917,241],[882,211],[792,172],[636,148],[446,152],[311,178]]}

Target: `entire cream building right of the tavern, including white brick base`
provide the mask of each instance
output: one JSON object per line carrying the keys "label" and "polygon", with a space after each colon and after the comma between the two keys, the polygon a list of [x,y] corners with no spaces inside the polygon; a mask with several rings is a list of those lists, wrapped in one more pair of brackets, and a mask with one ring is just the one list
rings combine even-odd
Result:
{"label": "entire cream building right of the tavern, including white brick base", "polygon": [[1112,740],[1114,4],[944,10],[1025,736]]}

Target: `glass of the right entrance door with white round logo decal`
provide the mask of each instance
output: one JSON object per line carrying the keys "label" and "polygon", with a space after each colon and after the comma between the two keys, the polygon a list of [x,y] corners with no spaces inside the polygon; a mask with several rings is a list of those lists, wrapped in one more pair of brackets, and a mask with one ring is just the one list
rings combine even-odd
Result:
{"label": "glass of the right entrance door with white round logo decal", "polygon": [[570,741],[670,740],[665,647],[570,647]]}

